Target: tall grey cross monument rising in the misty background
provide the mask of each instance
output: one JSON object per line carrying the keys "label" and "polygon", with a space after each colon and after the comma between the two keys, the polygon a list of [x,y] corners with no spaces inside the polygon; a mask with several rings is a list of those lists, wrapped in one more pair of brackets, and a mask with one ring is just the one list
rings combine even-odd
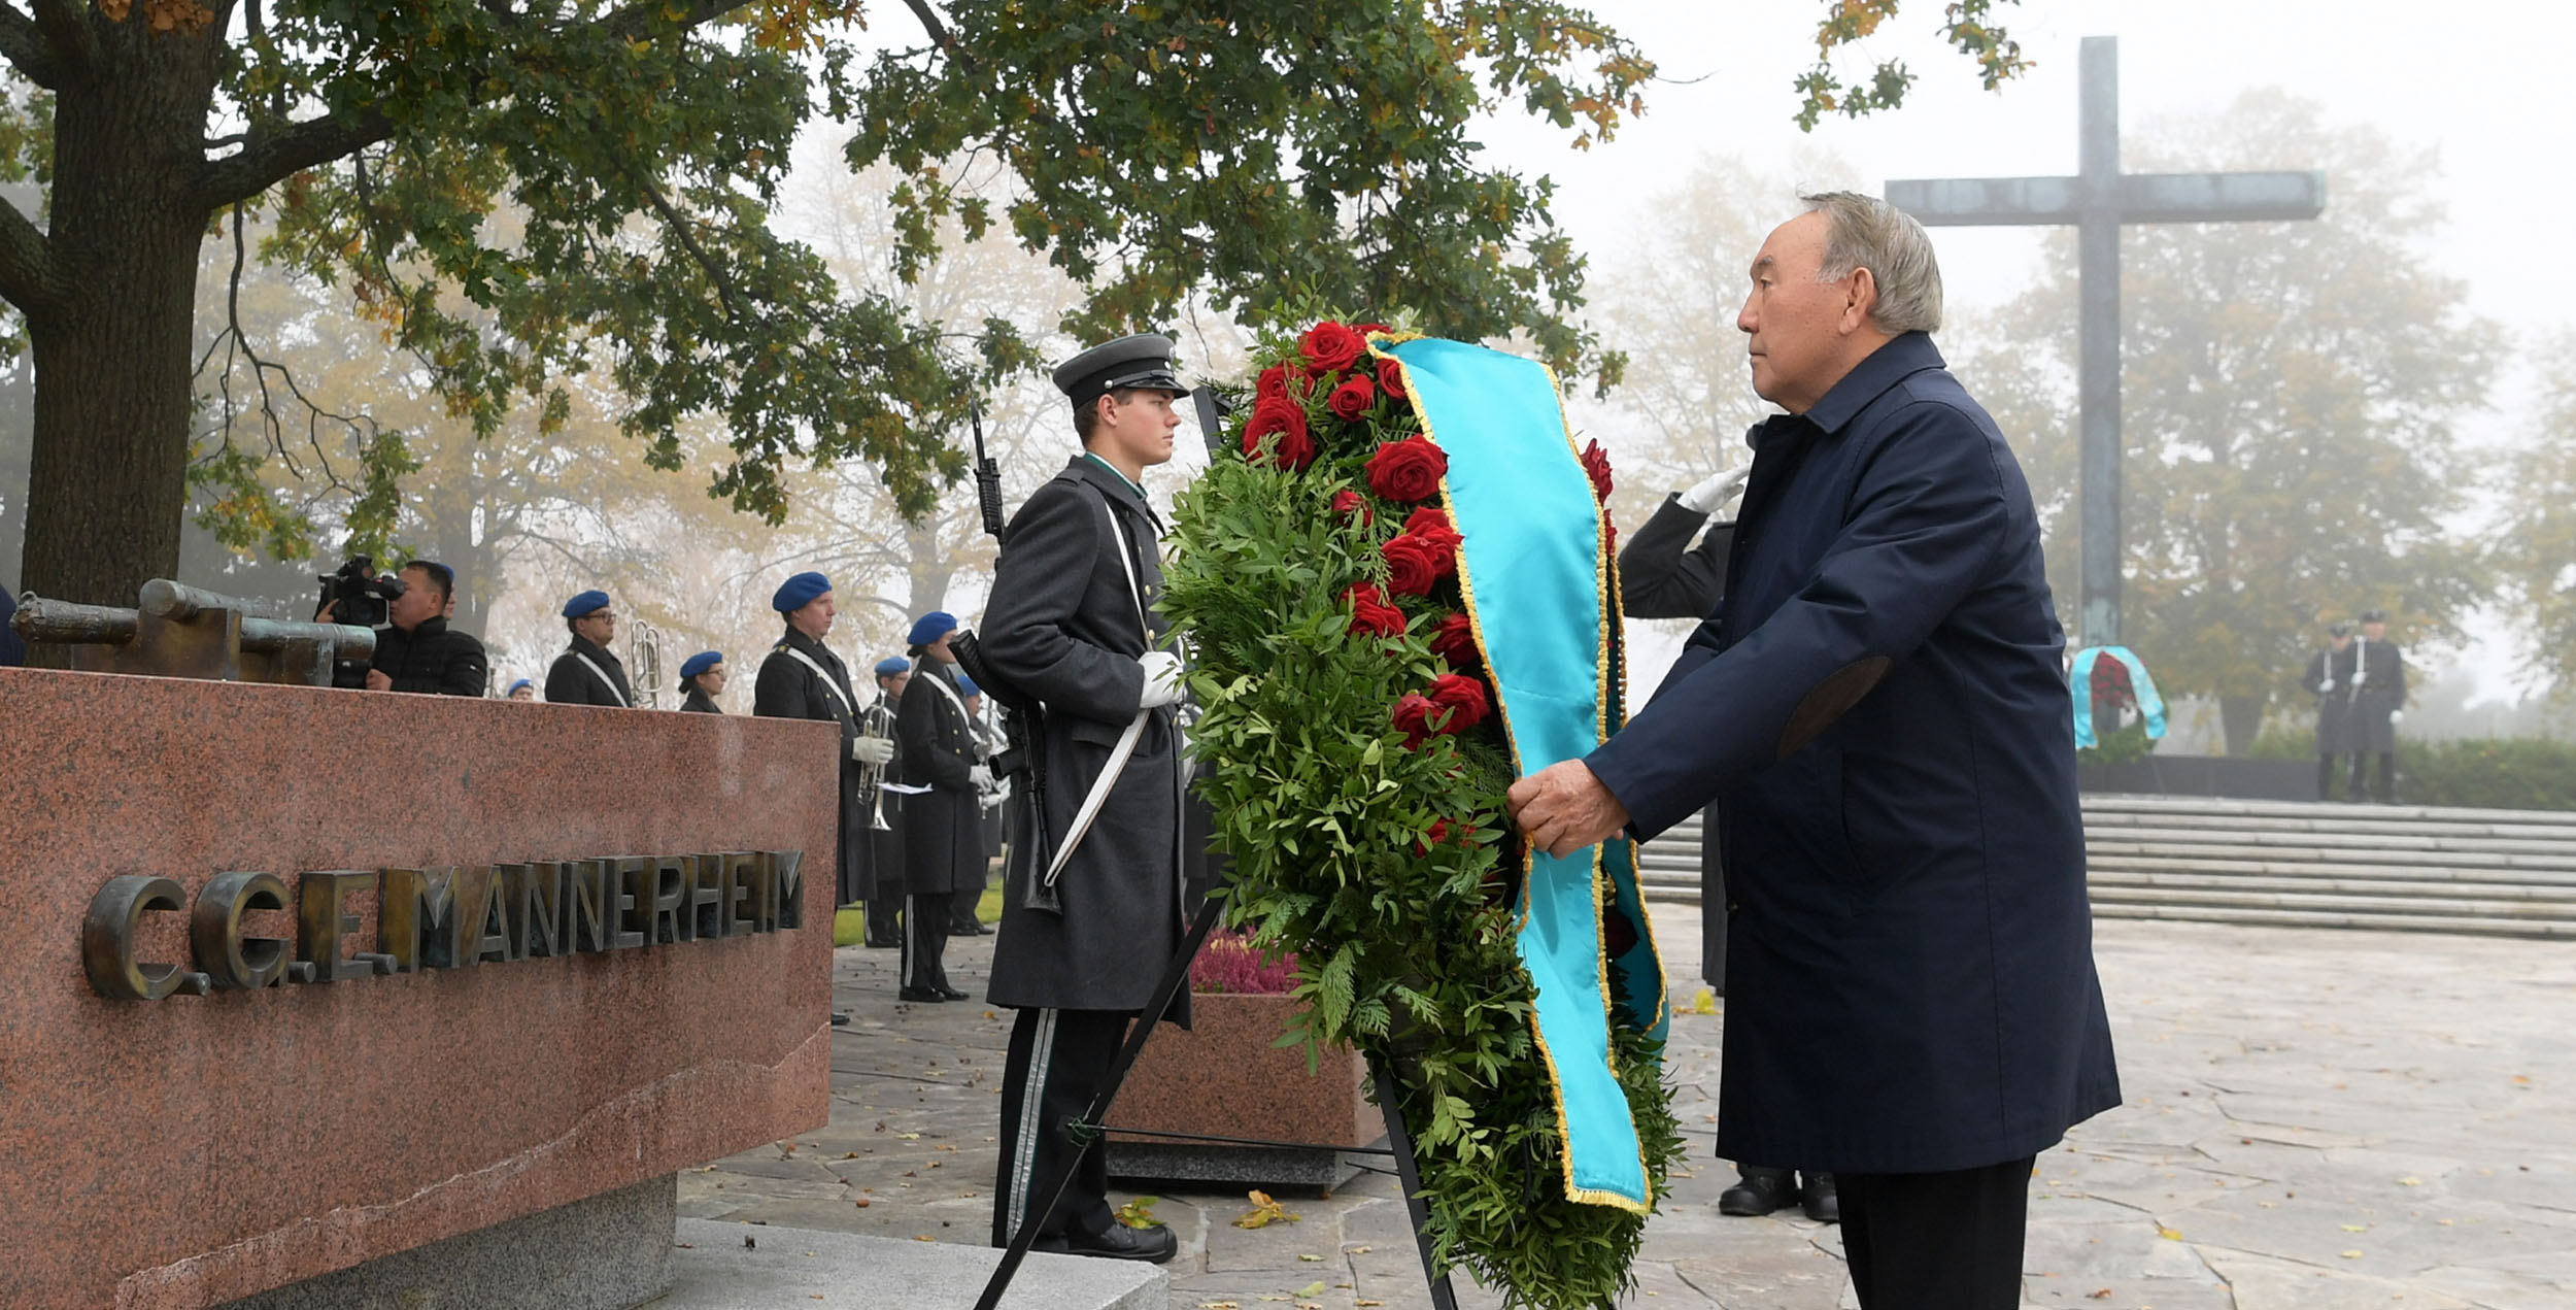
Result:
{"label": "tall grey cross monument rising in the misty background", "polygon": [[2081,242],[2084,645],[2120,645],[2120,224],[2282,222],[2326,209],[2324,173],[2120,173],[2120,39],[2087,36],[2081,173],[1891,181],[1924,227],[2074,224]]}

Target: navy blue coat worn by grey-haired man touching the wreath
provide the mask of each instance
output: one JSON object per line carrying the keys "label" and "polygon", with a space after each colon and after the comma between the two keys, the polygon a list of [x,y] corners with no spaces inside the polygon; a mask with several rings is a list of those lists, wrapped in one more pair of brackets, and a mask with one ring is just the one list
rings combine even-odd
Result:
{"label": "navy blue coat worn by grey-haired man touching the wreath", "polygon": [[1718,1155],[1935,1173],[2120,1104],[2040,523],[1932,338],[1754,433],[1726,593],[1584,763],[1726,859]]}

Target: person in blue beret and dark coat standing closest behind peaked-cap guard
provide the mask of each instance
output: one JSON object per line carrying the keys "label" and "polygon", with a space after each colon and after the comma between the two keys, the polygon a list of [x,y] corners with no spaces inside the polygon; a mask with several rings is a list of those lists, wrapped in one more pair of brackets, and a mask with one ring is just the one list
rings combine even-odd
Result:
{"label": "person in blue beret and dark coat standing closest behind peaked-cap guard", "polygon": [[894,740],[904,753],[904,1001],[966,1001],[948,985],[948,900],[958,887],[984,885],[984,781],[974,717],[956,683],[948,650],[958,621],[930,611],[912,621],[912,678],[894,712]]}

